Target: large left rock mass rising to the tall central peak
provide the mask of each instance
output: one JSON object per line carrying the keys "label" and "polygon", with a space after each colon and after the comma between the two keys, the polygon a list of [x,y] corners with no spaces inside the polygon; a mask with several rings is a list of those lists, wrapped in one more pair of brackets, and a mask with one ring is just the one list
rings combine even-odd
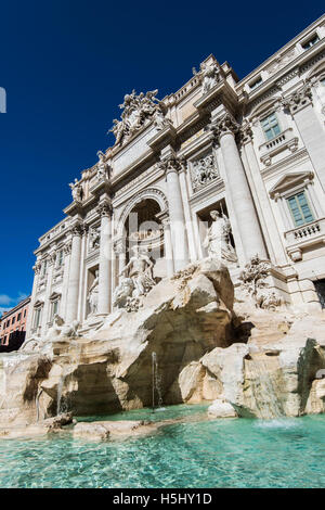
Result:
{"label": "large left rock mass rising to the tall central peak", "polygon": [[232,344],[233,302],[227,269],[205,259],[159,282],[139,311],[115,311],[88,337],[55,337],[39,353],[17,353],[10,364],[3,360],[2,422],[28,424],[67,409],[84,416],[148,406],[154,352],[164,401],[200,400],[180,374],[216,346]]}

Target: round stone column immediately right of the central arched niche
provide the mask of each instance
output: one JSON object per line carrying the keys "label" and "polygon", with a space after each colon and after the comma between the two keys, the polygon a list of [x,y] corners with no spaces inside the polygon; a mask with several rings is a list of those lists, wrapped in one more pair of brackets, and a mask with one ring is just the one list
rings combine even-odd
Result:
{"label": "round stone column immediately right of the central arched niche", "polygon": [[179,180],[179,170],[181,165],[179,160],[174,156],[169,156],[165,162],[162,162],[162,165],[165,165],[166,169],[167,199],[169,205],[174,270],[179,271],[188,264],[187,234]]}

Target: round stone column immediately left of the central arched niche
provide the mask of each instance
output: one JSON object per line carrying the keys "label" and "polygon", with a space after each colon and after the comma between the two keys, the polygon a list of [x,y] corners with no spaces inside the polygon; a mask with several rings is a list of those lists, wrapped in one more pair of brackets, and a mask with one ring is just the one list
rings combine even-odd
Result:
{"label": "round stone column immediately left of the central arched niche", "polygon": [[99,270],[99,315],[107,315],[112,309],[112,203],[107,199],[100,203],[101,244]]}

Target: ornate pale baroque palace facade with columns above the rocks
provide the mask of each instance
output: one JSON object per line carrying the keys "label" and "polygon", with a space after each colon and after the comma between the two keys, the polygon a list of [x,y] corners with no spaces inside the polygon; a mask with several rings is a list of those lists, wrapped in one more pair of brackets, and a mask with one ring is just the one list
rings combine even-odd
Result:
{"label": "ornate pale baroque palace facade with columns above the rocks", "polygon": [[325,16],[242,80],[213,55],[193,74],[162,100],[123,98],[114,144],[39,240],[27,337],[57,315],[86,331],[126,275],[139,294],[212,253],[235,284],[258,255],[283,302],[324,304]]}

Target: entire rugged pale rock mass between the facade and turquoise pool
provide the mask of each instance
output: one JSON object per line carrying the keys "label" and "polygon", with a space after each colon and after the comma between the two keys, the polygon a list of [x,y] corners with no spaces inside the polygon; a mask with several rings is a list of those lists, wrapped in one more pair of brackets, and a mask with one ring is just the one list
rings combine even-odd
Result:
{"label": "entire rugged pale rock mass between the facade and turquoise pool", "polygon": [[[3,430],[37,423],[48,431],[42,420],[64,410],[86,416],[150,406],[153,353],[164,404],[217,400],[214,417],[325,411],[324,314],[234,305],[227,269],[205,259],[154,286],[139,311],[116,310],[88,336],[1,355]],[[99,437],[114,434],[96,428]],[[91,435],[86,429],[80,434]]]}

